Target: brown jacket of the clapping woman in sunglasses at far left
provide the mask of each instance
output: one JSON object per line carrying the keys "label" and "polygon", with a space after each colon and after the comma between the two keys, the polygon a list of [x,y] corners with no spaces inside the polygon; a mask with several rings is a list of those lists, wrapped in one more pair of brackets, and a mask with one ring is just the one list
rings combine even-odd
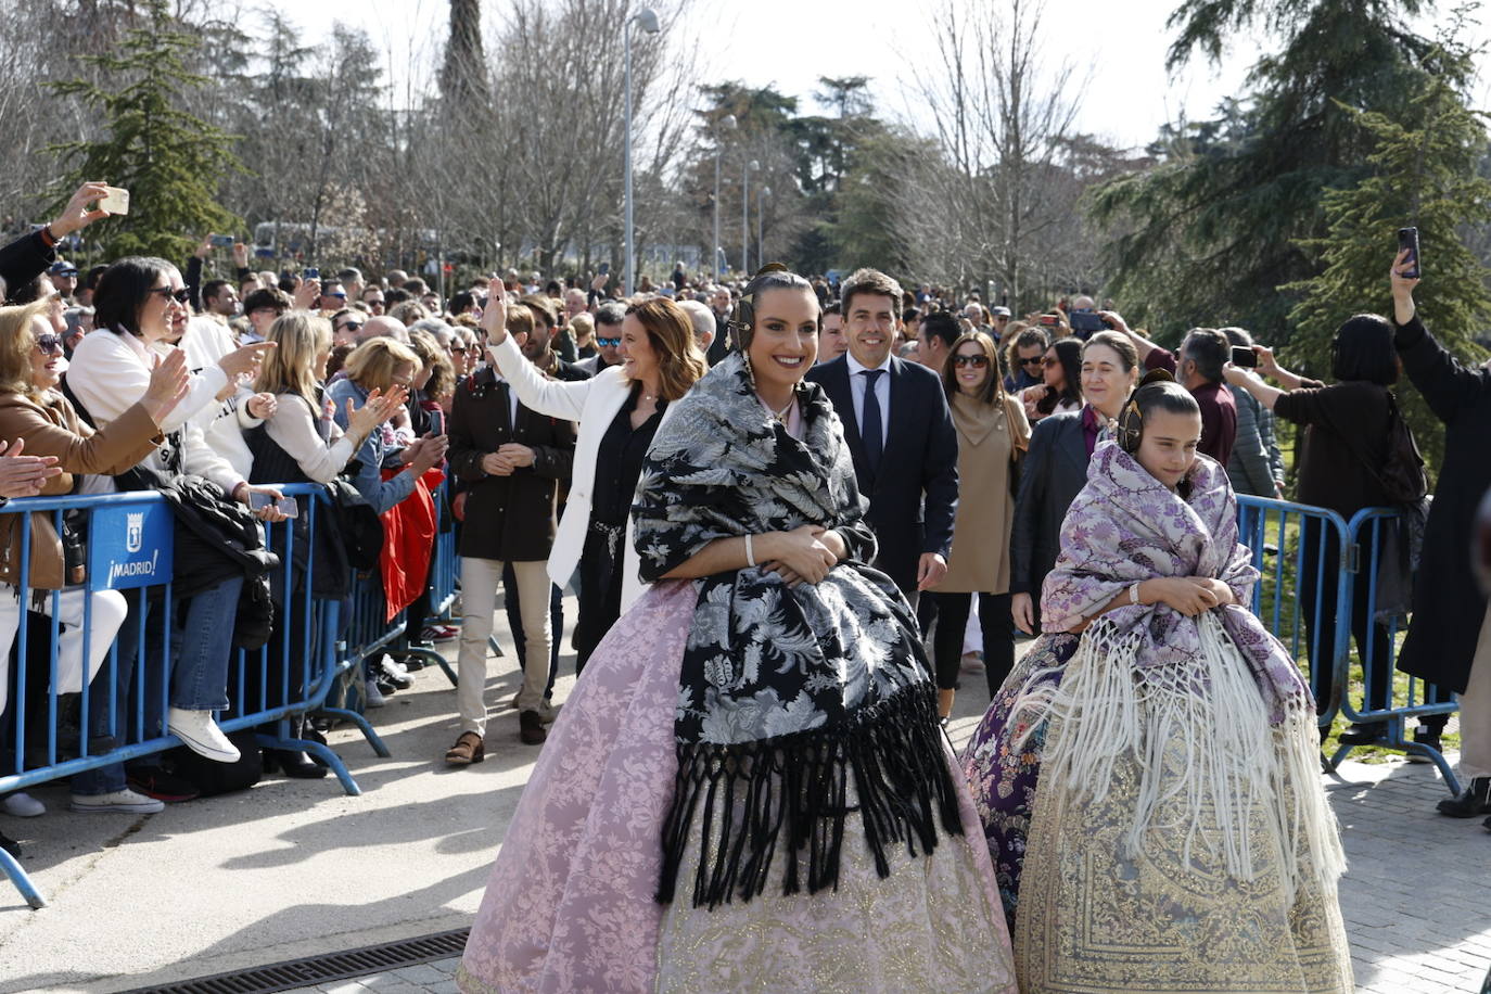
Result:
{"label": "brown jacket of the clapping woman in sunglasses at far left", "polygon": [[[63,472],[46,481],[42,496],[58,496],[72,493],[75,474],[113,475],[137,465],[155,450],[161,434],[140,404],[95,432],[61,393],[49,392],[40,399],[0,393],[0,441],[16,440],[25,443],[28,456],[57,456]],[[18,520],[19,514],[0,514],[0,560],[6,563],[16,544],[12,531]],[[63,547],[51,514],[34,514],[31,529],[31,586],[57,589],[61,586]]]}

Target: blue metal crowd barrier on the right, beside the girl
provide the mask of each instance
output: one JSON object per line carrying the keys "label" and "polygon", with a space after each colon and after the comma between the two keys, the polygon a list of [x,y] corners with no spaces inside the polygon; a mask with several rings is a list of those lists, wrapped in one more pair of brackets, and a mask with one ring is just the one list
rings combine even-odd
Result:
{"label": "blue metal crowd barrier on the right, beside the girl", "polygon": [[[1309,674],[1323,730],[1337,714],[1352,723],[1382,721],[1385,732],[1373,745],[1422,756],[1458,793],[1443,754],[1406,738],[1410,720],[1449,714],[1458,703],[1437,687],[1396,678],[1402,618],[1373,623],[1382,593],[1378,568],[1384,535],[1397,517],[1393,510],[1367,508],[1348,522],[1327,508],[1239,495],[1241,541],[1252,550],[1261,574],[1251,607]],[[1360,694],[1352,690],[1354,639]],[[1342,744],[1331,766],[1352,748]]]}

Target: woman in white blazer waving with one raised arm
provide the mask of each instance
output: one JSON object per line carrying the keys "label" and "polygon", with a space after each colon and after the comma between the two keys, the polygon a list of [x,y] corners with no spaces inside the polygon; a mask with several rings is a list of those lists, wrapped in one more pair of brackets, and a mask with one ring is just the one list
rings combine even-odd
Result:
{"label": "woman in white blazer waving with one raised arm", "polygon": [[[494,286],[499,286],[494,283]],[[576,671],[611,624],[643,593],[631,536],[632,493],[643,456],[668,413],[708,367],[689,314],[666,298],[632,304],[622,322],[619,365],[589,380],[544,377],[507,334],[507,303],[492,294],[482,314],[488,356],[523,407],[580,423],[574,475],[549,556],[549,578],[564,586],[580,566]]]}

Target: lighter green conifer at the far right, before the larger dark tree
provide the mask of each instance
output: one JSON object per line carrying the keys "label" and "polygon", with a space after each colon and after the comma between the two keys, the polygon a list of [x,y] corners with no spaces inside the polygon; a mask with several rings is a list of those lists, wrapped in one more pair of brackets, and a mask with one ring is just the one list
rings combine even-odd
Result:
{"label": "lighter green conifer at the far right, before the larger dark tree", "polygon": [[[1288,358],[1317,377],[1328,374],[1330,343],[1346,317],[1391,306],[1388,264],[1405,225],[1418,228],[1424,282],[1413,297],[1425,322],[1461,359],[1481,358],[1475,334],[1491,317],[1491,292],[1464,232],[1491,222],[1491,180],[1481,171],[1485,115],[1472,110],[1463,92],[1473,73],[1472,52],[1446,40],[1427,64],[1437,72],[1412,97],[1403,122],[1351,110],[1376,143],[1367,158],[1370,174],[1325,191],[1327,232],[1300,241],[1324,271],[1284,288],[1302,295],[1290,314],[1296,331]],[[1439,422],[1406,383],[1399,395],[1430,465],[1437,465]]]}

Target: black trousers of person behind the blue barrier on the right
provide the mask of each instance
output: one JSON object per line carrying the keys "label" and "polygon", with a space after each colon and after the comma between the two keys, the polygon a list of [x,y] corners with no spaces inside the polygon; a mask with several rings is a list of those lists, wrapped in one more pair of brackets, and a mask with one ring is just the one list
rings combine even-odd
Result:
{"label": "black trousers of person behind the blue barrier on the right", "polygon": [[[1324,542],[1321,542],[1323,535]],[[1357,653],[1363,665],[1369,659],[1373,660],[1370,672],[1367,672],[1366,705],[1369,709],[1387,708],[1393,700],[1393,668],[1388,665],[1390,633],[1385,624],[1372,623],[1367,614],[1372,595],[1372,529],[1364,529],[1361,534],[1360,562],[1364,568],[1349,578],[1343,578],[1339,572],[1340,539],[1336,529],[1325,528],[1317,519],[1305,519],[1300,542],[1303,544],[1303,566],[1296,586],[1308,632],[1309,683],[1315,693],[1315,711],[1325,712],[1334,687],[1336,598],[1343,581],[1352,584],[1351,635],[1357,639]],[[1317,577],[1318,598],[1315,596]],[[1340,693],[1345,697],[1346,687],[1342,687]]]}

